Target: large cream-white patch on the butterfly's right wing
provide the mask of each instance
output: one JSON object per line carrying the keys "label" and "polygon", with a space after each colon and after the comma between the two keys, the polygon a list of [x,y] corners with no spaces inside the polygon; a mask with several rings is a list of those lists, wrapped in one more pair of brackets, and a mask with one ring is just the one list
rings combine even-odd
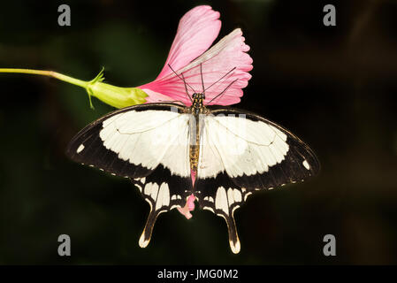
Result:
{"label": "large cream-white patch on the butterfly's right wing", "polygon": [[198,178],[263,173],[286,157],[286,134],[275,126],[235,116],[208,115],[203,121]]}

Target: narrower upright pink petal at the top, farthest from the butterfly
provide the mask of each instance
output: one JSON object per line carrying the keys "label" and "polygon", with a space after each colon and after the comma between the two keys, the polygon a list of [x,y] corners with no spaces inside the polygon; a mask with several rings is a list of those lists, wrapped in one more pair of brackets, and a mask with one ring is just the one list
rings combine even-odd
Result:
{"label": "narrower upright pink petal at the top, farthest from the butterfly", "polygon": [[220,26],[219,12],[210,6],[197,6],[187,11],[179,20],[177,34],[157,80],[172,73],[168,64],[178,70],[208,50],[217,38]]}

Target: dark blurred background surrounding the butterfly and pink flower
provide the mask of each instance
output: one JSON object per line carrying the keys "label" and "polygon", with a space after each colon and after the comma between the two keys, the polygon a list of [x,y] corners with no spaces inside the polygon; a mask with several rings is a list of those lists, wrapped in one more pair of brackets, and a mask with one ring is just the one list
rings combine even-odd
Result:
{"label": "dark blurred background surrounding the butterfly and pink flower", "polygon": [[[72,26],[57,25],[69,4]],[[317,152],[317,178],[257,193],[225,220],[195,210],[157,219],[127,180],[74,164],[65,147],[112,110],[65,82],[0,73],[0,264],[397,264],[396,1],[19,1],[0,11],[0,67],[53,70],[134,87],[160,72],[180,17],[220,11],[241,27],[254,69],[240,109],[286,126]],[[324,27],[324,4],[337,26]],[[218,41],[217,40],[217,41]],[[57,255],[57,237],[72,256]],[[337,256],[323,255],[332,233]]]}

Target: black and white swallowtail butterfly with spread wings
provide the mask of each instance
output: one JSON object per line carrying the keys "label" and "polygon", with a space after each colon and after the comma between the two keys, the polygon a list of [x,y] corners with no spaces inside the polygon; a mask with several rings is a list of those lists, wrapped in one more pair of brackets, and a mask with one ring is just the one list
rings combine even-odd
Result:
{"label": "black and white swallowtail butterfly with spread wings", "polygon": [[191,106],[147,103],[112,111],[76,134],[66,154],[139,188],[150,206],[142,248],[158,215],[184,207],[193,194],[200,208],[225,218],[230,247],[239,253],[233,214],[248,195],[306,180],[320,165],[286,128],[248,111],[205,105],[203,83],[189,99]]}

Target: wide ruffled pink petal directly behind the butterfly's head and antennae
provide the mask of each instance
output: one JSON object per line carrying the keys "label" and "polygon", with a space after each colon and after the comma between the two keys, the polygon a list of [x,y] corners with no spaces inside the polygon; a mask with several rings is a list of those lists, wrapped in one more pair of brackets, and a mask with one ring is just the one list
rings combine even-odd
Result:
{"label": "wide ruffled pink petal directly behind the butterfly's head and antennae", "polygon": [[[251,75],[248,73],[252,70],[252,58],[246,53],[249,46],[245,44],[244,37],[240,28],[233,30],[231,34],[226,35],[221,41],[215,44],[210,50],[207,50],[202,56],[197,57],[193,62],[184,66],[177,73],[183,73],[187,83],[195,89],[195,92],[202,92],[202,79],[200,73],[200,64],[202,64],[202,77],[204,88],[210,87],[217,82],[222,76],[230,72],[224,79],[219,80],[215,85],[205,91],[205,103],[209,103],[212,98],[218,96],[233,80],[236,80],[222,96],[210,104],[230,105],[240,102],[240,96],[243,95],[242,89],[248,85]],[[187,97],[185,86],[174,73],[150,82],[139,88],[148,88],[164,96],[170,96],[171,100],[178,100],[191,105]],[[189,95],[193,91],[188,88]],[[148,93],[149,95],[149,93]]]}

